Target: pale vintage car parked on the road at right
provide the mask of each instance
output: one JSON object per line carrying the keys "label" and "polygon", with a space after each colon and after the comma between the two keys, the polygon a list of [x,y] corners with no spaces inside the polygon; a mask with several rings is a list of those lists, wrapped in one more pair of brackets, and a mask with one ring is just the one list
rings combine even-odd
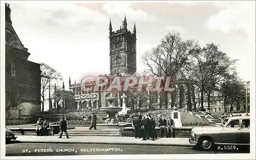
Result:
{"label": "pale vintage car parked on the road at right", "polygon": [[189,143],[203,150],[211,150],[214,145],[249,146],[250,116],[228,117],[220,126],[194,127]]}

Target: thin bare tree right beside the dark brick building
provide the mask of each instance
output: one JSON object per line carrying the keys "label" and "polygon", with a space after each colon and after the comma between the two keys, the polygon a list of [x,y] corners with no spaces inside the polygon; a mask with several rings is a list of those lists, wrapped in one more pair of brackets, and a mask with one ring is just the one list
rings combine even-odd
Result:
{"label": "thin bare tree right beside the dark brick building", "polygon": [[[50,77],[50,82],[53,84],[54,82],[58,82],[62,80],[61,73],[57,72],[54,68],[50,67],[46,63],[41,64],[41,75]],[[45,92],[49,89],[49,79],[41,78],[41,97],[42,97],[42,112],[45,109]],[[49,97],[51,98],[51,97]]]}

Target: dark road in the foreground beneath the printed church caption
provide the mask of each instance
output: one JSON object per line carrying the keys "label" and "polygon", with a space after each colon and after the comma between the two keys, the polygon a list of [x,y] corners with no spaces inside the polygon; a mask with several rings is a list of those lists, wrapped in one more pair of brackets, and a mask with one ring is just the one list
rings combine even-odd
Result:
{"label": "dark road in the foreground beneath the printed church caption", "polygon": [[[47,153],[44,153],[47,152]],[[206,154],[227,151],[200,151],[193,147],[20,143],[6,144],[6,156],[99,155],[99,154]],[[233,153],[233,152],[232,152]]]}

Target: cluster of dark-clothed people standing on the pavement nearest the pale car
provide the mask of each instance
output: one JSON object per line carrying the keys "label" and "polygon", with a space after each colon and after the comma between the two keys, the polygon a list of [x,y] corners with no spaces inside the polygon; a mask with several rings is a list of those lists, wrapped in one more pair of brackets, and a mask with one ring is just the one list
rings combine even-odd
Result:
{"label": "cluster of dark-clothed people standing on the pavement nearest the pale car", "polygon": [[[133,126],[135,130],[135,138],[143,138],[143,141],[150,138],[152,138],[153,141],[157,139],[157,132],[155,129],[156,122],[150,114],[145,116],[135,115]],[[164,136],[164,131],[166,132],[166,138],[170,138],[171,135],[175,138],[174,121],[171,117],[166,121],[160,116],[158,127],[160,127],[161,138]]]}

